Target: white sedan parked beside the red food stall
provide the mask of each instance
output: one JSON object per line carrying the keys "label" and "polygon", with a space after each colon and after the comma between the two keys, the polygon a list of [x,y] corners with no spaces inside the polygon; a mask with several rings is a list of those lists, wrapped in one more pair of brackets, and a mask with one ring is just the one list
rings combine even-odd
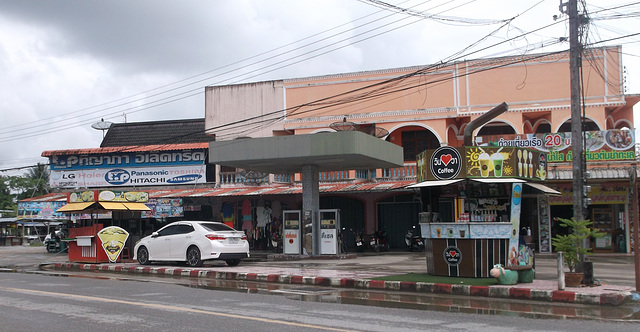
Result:
{"label": "white sedan parked beside the red food stall", "polygon": [[249,257],[249,242],[244,232],[223,223],[176,221],[138,241],[134,253],[142,265],[170,261],[202,266],[204,261],[218,259],[236,266]]}

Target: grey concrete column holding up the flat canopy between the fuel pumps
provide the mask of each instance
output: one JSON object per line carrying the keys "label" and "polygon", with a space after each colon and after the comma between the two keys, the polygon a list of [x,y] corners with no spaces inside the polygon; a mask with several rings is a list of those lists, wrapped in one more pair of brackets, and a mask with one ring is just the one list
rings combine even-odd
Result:
{"label": "grey concrete column holding up the flat canopy between the fuel pumps", "polygon": [[[307,253],[311,248],[314,256],[320,255],[320,175],[318,165],[302,166],[302,216],[305,218],[303,224],[303,247],[307,248]],[[311,220],[306,220],[307,213],[311,212]],[[311,227],[307,224],[311,223]],[[309,234],[309,235],[308,235]],[[311,243],[307,243],[311,241]]]}

